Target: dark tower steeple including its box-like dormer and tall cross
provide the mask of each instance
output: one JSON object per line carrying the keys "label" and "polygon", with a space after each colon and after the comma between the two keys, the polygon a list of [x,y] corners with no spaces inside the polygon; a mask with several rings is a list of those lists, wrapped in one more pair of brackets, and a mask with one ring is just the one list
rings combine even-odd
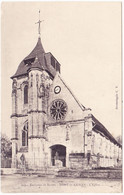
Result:
{"label": "dark tower steeple including its box-like dormer and tall cross", "polygon": [[[40,14],[40,11],[39,11],[39,14]],[[45,70],[46,72],[48,72],[48,74],[52,78],[54,78],[54,76],[56,75],[56,71],[60,72],[59,62],[55,59],[55,57],[50,52],[45,53],[45,50],[44,50],[43,45],[41,43],[40,23],[42,21],[40,20],[40,15],[39,15],[39,21],[37,22],[39,24],[38,25],[39,37],[38,37],[37,44],[34,47],[34,49],[32,50],[32,52],[27,57],[25,57],[22,60],[22,62],[19,64],[16,73],[11,77],[12,79],[16,78],[16,77],[28,75],[29,69],[34,68],[34,67],[41,69],[41,70]],[[37,63],[35,61],[36,58],[37,58]]]}

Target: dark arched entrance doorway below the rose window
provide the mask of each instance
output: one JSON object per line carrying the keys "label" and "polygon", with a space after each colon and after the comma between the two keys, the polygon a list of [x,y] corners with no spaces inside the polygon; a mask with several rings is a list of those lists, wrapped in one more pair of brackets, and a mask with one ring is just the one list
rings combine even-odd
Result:
{"label": "dark arched entrance doorway below the rose window", "polygon": [[63,145],[53,145],[50,148],[52,166],[66,167],[66,147]]}

